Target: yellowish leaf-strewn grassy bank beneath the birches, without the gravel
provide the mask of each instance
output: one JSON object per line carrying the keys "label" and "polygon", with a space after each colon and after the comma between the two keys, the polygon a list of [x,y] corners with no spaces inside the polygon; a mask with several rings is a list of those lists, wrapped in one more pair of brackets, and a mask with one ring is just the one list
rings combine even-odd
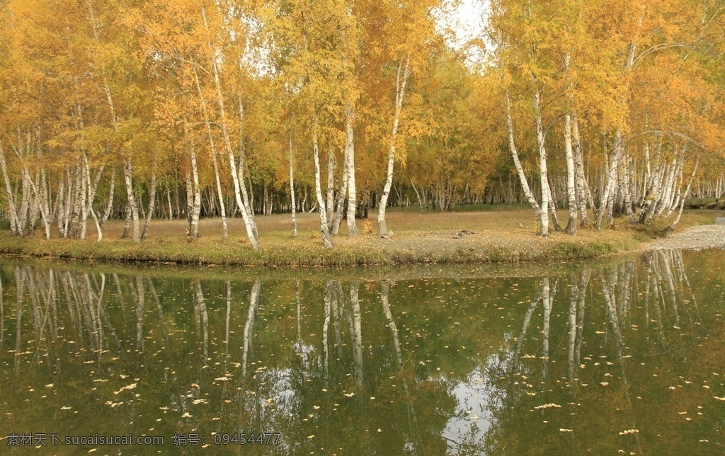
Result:
{"label": "yellowish leaf-strewn grassy bank beneath the birches, without the gravel", "polygon": [[[677,229],[712,223],[713,212],[693,211],[682,217]],[[563,213],[562,219],[566,217]],[[229,237],[221,239],[220,220],[202,220],[202,237],[189,241],[186,220],[154,220],[149,236],[140,244],[120,239],[123,222],[113,220],[104,228],[104,240],[88,224],[85,242],[76,239],[42,239],[41,231],[21,239],[0,232],[0,252],[32,257],[125,262],[176,262],[213,265],[343,266],[431,263],[543,262],[586,259],[624,253],[651,239],[658,227],[648,230],[616,220],[615,228],[580,230],[577,236],[552,233],[536,235],[531,210],[455,213],[392,211],[388,215],[392,239],[375,236],[374,214],[357,220],[361,236],[347,237],[346,228],[335,238],[334,249],[323,249],[316,214],[298,215],[298,236],[291,236],[289,215],[258,216],[262,252],[254,252],[244,235],[241,220],[229,220]],[[562,223],[565,223],[563,220]],[[344,222],[343,222],[344,223]]]}

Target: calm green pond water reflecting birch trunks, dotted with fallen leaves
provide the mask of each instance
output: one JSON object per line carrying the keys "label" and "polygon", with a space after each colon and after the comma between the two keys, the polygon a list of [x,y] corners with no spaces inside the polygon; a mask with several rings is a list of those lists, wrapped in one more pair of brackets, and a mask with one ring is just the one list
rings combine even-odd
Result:
{"label": "calm green pond water reflecting birch trunks, dotted with fallen leaves", "polygon": [[724,268],[0,260],[1,451],[720,455]]}

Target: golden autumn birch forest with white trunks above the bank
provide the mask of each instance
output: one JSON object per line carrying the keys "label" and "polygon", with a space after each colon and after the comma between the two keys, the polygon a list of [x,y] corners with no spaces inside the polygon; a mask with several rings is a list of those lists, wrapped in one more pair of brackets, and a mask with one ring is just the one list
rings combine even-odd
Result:
{"label": "golden autumn birch forest with white trunks above the bank", "polygon": [[133,243],[241,217],[257,250],[273,212],[332,247],[389,207],[527,204],[548,236],[723,197],[725,1],[490,0],[465,43],[456,8],[0,0],[1,216]]}

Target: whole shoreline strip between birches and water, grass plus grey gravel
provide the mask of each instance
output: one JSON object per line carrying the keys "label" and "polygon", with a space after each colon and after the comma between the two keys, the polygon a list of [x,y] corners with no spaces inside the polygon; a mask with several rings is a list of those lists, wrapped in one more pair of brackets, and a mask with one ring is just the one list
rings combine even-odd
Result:
{"label": "whole shoreline strip between birches and water, grass plus grey gravel", "polygon": [[[528,215],[528,212],[515,214],[524,220]],[[57,237],[45,241],[37,231],[25,238],[2,232],[0,254],[41,260],[251,268],[551,263],[657,249],[725,248],[725,217],[718,215],[721,212],[689,215],[683,226],[660,239],[651,239],[651,231],[642,231],[622,220],[616,221],[614,229],[595,231],[587,228],[576,236],[555,232],[543,239],[536,236],[531,227],[518,228],[520,223],[513,225],[518,220],[516,217],[505,221],[508,226],[498,228],[497,225],[503,225],[500,220],[504,215],[500,213],[494,213],[493,225],[480,220],[490,217],[490,214],[471,213],[470,217],[476,220],[468,225],[457,220],[460,217],[456,215],[444,217],[444,220],[452,222],[449,226],[457,228],[436,226],[434,215],[430,215],[423,216],[423,219],[433,220],[433,223],[421,225],[424,228],[402,231],[393,239],[378,239],[370,233],[358,238],[338,236],[333,249],[323,249],[319,245],[319,235],[313,228],[301,231],[297,238],[284,231],[273,231],[260,236],[260,244],[265,248],[262,252],[254,252],[239,232],[225,241],[215,239],[215,236],[203,236],[192,242],[173,231],[178,231],[182,221],[159,220],[157,234],[140,244],[117,239],[112,236],[112,230],[109,230],[110,236],[104,233],[101,243],[95,241],[95,233],[89,233],[86,241]],[[214,223],[214,220],[209,223]],[[460,226],[466,228],[460,230]]]}

